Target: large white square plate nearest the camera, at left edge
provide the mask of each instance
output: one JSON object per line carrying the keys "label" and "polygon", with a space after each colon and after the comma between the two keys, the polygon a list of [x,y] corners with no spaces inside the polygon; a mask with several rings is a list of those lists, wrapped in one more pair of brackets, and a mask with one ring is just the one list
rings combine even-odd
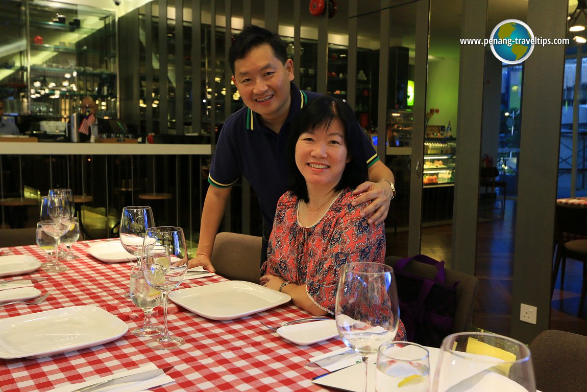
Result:
{"label": "large white square plate nearest the camera, at left edge", "polygon": [[46,357],[108,343],[129,327],[95,306],[71,306],[0,320],[0,358]]}

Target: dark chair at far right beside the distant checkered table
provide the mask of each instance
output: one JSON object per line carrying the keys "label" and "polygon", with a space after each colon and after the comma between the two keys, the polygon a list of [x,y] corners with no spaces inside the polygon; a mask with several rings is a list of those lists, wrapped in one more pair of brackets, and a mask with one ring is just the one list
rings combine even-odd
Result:
{"label": "dark chair at far right beside the distant checkered table", "polygon": [[587,208],[556,203],[555,244],[556,253],[552,267],[551,297],[554,293],[558,269],[561,267],[561,289],[565,284],[566,259],[583,263],[583,283],[579,300],[579,316],[583,314],[587,294]]}

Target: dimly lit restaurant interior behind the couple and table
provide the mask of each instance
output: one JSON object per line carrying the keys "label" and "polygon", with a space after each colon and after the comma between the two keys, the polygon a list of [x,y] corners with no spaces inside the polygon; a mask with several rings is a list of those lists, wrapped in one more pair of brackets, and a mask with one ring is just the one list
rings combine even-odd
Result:
{"label": "dimly lit restaurant interior behind the couple and table", "polygon": [[[118,237],[123,207],[146,205],[195,254],[215,143],[243,105],[228,48],[255,24],[281,35],[299,88],[355,109],[393,171],[386,256],[427,254],[477,277],[477,330],[527,344],[548,329],[587,335],[586,261],[552,272],[555,207],[587,196],[587,46],[568,31],[587,12],[552,3],[4,0],[0,97],[21,135],[0,137],[2,230],[35,227],[48,190],[69,188],[80,241]],[[517,64],[460,42],[507,19],[569,42]],[[85,96],[98,106],[93,143],[77,132]],[[261,235],[245,179],[220,231]]]}

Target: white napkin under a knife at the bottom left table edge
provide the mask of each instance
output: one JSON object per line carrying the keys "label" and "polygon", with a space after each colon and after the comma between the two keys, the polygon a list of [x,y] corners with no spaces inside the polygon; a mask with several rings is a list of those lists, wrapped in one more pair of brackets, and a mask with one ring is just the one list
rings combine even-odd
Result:
{"label": "white napkin under a knife at the bottom left table edge", "polygon": [[[133,370],[118,371],[114,374],[110,374],[109,376],[92,377],[92,378],[89,378],[88,381],[83,381],[82,383],[76,383],[76,384],[69,384],[68,383],[63,386],[60,386],[60,387],[53,389],[53,391],[54,392],[71,392],[71,391],[75,391],[76,389],[84,388],[84,387],[90,386],[92,384],[98,383],[100,380],[107,380],[109,378],[112,378],[112,376],[117,376],[117,377],[129,376],[130,374],[141,373],[142,371],[147,371],[147,370],[155,370],[156,368],[157,368],[157,366],[155,366],[154,364],[151,363],[151,364],[141,366],[141,367],[133,369]],[[158,387],[161,385],[173,383],[174,381],[175,380],[173,378],[167,376],[166,374],[161,374],[161,376],[153,377],[153,378],[150,378],[149,380],[145,380],[145,381],[139,381],[136,383],[116,384],[113,386],[104,387],[104,388],[100,389],[100,391],[104,391],[104,392],[106,392],[106,391],[107,392],[141,392],[141,391],[147,390],[149,388],[154,388],[154,387]]]}

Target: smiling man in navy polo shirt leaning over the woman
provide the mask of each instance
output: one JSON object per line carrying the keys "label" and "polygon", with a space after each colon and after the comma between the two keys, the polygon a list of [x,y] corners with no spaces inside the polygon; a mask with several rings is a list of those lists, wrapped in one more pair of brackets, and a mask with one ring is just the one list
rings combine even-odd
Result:
{"label": "smiling man in navy polo shirt leaning over the woman", "polygon": [[[237,35],[230,52],[232,82],[246,108],[231,115],[222,126],[210,166],[208,193],[204,201],[200,242],[190,267],[203,266],[214,272],[210,257],[218,226],[224,215],[232,185],[246,177],[259,197],[263,213],[264,246],[273,227],[279,197],[288,186],[285,149],[289,125],[303,105],[318,93],[300,91],[293,83],[294,63],[287,57],[279,35],[258,26],[246,26]],[[362,215],[373,215],[369,223],[379,223],[387,216],[389,202],[395,196],[393,173],[379,160],[365,137],[369,157],[369,180],[355,190],[353,205],[373,200]]]}

